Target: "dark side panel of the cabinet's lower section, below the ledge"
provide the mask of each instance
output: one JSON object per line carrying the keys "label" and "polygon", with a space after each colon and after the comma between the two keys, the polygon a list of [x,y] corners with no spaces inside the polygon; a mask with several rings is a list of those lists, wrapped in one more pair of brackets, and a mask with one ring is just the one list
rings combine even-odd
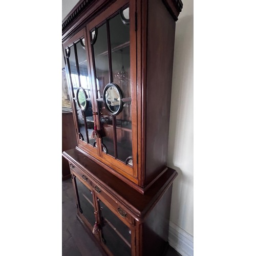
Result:
{"label": "dark side panel of the cabinet's lower section, below the ledge", "polygon": [[143,255],[162,255],[168,240],[171,185],[146,217],[142,228]]}

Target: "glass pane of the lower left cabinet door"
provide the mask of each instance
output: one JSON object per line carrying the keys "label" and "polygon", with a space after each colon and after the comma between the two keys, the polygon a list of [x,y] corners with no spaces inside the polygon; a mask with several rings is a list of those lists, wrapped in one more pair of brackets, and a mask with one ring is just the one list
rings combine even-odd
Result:
{"label": "glass pane of the lower left cabinet door", "polygon": [[81,214],[89,221],[93,226],[95,223],[94,206],[92,191],[87,188],[78,179],[75,179],[78,192],[78,200],[80,204]]}

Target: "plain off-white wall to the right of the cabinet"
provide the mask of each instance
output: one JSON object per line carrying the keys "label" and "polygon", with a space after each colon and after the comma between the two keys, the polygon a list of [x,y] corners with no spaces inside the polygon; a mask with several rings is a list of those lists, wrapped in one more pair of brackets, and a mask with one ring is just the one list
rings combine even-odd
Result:
{"label": "plain off-white wall to the right of the cabinet", "polygon": [[[193,174],[193,0],[182,0],[176,23],[168,166],[177,170],[170,226],[194,234]],[[175,225],[173,225],[175,224]],[[169,240],[170,241],[170,240]]]}

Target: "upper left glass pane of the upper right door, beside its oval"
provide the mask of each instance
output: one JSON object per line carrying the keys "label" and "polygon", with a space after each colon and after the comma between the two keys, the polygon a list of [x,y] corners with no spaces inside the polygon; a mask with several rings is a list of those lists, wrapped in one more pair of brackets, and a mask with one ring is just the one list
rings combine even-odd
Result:
{"label": "upper left glass pane of the upper right door, beside its oval", "polygon": [[103,97],[103,89],[109,80],[109,54],[106,34],[106,24],[97,29],[97,38],[93,45],[95,73],[97,83],[97,98]]}

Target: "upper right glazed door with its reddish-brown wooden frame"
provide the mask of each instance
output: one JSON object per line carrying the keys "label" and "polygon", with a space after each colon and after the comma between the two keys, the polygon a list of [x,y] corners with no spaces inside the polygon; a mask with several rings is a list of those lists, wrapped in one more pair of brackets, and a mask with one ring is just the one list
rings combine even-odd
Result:
{"label": "upper right glazed door with its reddish-brown wooden frame", "polygon": [[137,178],[134,8],[127,1],[115,2],[87,25],[87,37],[101,137],[97,147],[117,172]]}

